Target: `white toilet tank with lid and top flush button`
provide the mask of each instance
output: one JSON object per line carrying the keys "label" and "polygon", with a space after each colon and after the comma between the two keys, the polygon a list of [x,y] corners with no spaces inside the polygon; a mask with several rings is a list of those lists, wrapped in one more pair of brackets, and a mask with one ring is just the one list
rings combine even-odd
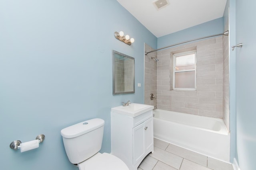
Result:
{"label": "white toilet tank with lid and top flush button", "polygon": [[104,120],[90,119],[66,127],[60,131],[72,164],[78,164],[100,151],[104,130]]}

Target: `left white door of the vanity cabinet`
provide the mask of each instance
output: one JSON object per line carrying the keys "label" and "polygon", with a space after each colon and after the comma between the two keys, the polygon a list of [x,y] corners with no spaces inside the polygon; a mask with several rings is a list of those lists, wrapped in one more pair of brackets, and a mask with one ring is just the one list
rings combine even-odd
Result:
{"label": "left white door of the vanity cabinet", "polygon": [[136,162],[140,160],[142,156],[144,156],[144,125],[145,123],[141,123],[140,125],[133,128],[133,164],[136,164]]}

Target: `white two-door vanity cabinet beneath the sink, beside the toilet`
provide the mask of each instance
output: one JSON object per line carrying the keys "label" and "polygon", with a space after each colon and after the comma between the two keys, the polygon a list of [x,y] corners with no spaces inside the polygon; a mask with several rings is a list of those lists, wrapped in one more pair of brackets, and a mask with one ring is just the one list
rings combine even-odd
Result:
{"label": "white two-door vanity cabinet beneath the sink, beside the toilet", "polygon": [[123,160],[130,170],[137,170],[147,154],[154,152],[153,108],[134,117],[111,111],[111,154]]}

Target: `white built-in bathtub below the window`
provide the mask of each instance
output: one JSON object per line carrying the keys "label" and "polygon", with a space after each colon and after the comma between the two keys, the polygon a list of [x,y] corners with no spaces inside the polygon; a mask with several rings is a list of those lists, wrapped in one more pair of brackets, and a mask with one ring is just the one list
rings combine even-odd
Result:
{"label": "white built-in bathtub below the window", "polygon": [[154,137],[230,162],[230,133],[222,119],[156,109]]}

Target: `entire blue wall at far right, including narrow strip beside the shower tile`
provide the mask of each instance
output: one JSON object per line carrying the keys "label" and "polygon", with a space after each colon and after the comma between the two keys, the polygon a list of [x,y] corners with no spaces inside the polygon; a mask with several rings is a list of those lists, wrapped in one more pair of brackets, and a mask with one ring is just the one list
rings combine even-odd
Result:
{"label": "entire blue wall at far right, including narrow strip beside the shower tile", "polygon": [[253,0],[228,0],[224,12],[228,18],[229,8],[230,46],[244,43],[234,51],[230,48],[230,162],[235,158],[241,170],[256,167],[255,6]]}

